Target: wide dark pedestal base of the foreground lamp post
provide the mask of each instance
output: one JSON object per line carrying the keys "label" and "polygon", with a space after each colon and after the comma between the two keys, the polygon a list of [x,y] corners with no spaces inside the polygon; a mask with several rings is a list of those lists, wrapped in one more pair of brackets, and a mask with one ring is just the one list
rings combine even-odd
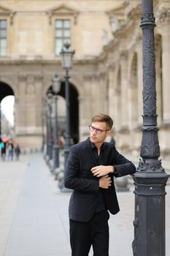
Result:
{"label": "wide dark pedestal base of the foreground lamp post", "polygon": [[165,186],[166,173],[134,175],[135,218],[134,256],[165,255]]}

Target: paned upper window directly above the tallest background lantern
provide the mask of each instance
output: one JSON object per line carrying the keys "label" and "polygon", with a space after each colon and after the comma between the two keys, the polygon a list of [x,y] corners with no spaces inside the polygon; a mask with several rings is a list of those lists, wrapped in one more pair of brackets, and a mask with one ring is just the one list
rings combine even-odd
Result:
{"label": "paned upper window directly above the tallest background lantern", "polygon": [[70,42],[70,20],[55,20],[55,55],[59,55],[65,42]]}

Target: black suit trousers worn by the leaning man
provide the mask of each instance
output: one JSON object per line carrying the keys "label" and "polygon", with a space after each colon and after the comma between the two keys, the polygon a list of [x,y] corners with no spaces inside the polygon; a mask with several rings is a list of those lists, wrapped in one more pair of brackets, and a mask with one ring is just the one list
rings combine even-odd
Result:
{"label": "black suit trousers worn by the leaning man", "polygon": [[107,210],[94,214],[89,222],[70,219],[72,256],[88,256],[91,246],[93,256],[109,256],[108,219]]}

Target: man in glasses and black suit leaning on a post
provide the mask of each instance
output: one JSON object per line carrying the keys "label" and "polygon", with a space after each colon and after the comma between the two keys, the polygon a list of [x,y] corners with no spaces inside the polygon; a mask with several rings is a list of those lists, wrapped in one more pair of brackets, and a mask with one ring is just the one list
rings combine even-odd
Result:
{"label": "man in glasses and black suit leaning on a post", "polygon": [[90,137],[70,149],[65,187],[73,189],[69,203],[72,256],[109,255],[109,213],[119,206],[114,178],[135,172],[134,164],[119,154],[112,143],[104,142],[112,129],[112,118],[93,116]]}

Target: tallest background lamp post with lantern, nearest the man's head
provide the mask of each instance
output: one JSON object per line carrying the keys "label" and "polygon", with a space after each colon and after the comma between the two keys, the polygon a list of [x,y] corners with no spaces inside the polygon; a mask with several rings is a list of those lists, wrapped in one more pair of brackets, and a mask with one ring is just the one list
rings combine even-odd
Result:
{"label": "tallest background lamp post with lantern, nearest the man's head", "polygon": [[66,132],[65,132],[65,145],[64,145],[64,164],[69,156],[70,148],[70,103],[69,103],[69,69],[72,69],[72,59],[75,51],[70,50],[70,44],[66,42],[64,48],[61,50],[62,68],[66,70],[65,75],[65,94],[66,94]]}

